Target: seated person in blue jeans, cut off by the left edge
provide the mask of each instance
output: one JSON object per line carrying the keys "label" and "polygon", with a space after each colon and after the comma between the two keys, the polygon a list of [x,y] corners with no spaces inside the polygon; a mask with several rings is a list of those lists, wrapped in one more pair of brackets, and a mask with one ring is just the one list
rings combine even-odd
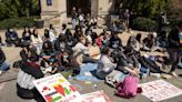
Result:
{"label": "seated person in blue jeans, cut off by the left edge", "polygon": [[6,62],[6,55],[2,49],[0,48],[0,74],[3,71],[8,71],[10,69],[10,65]]}

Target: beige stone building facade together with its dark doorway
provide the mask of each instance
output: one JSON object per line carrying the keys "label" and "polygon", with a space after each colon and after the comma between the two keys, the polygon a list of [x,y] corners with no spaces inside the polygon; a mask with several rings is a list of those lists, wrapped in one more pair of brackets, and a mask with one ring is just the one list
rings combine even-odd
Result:
{"label": "beige stone building facade together with its dark doorway", "polygon": [[114,0],[40,0],[40,3],[41,19],[55,24],[68,22],[73,7],[91,17],[98,17],[102,23],[105,16],[114,10]]}

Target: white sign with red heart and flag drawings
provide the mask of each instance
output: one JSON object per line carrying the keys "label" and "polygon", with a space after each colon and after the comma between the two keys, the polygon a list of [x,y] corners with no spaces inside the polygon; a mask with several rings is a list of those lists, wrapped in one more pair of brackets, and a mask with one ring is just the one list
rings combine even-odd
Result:
{"label": "white sign with red heart and flag drawings", "polygon": [[84,102],[77,89],[58,73],[33,81],[47,102]]}

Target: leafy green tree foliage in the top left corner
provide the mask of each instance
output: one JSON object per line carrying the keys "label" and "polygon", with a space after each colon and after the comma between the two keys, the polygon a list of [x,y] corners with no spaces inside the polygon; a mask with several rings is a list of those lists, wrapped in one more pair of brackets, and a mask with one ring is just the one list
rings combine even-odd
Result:
{"label": "leafy green tree foliage in the top left corner", "polygon": [[39,14],[39,0],[0,0],[0,20]]}

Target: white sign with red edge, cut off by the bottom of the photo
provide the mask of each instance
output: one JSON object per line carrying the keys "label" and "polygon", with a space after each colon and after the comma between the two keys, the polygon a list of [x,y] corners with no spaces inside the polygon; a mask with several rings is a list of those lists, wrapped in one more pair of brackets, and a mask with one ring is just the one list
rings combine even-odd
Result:
{"label": "white sign with red edge, cut off by the bottom of the photo", "polygon": [[82,95],[87,102],[112,102],[103,91],[97,91]]}

